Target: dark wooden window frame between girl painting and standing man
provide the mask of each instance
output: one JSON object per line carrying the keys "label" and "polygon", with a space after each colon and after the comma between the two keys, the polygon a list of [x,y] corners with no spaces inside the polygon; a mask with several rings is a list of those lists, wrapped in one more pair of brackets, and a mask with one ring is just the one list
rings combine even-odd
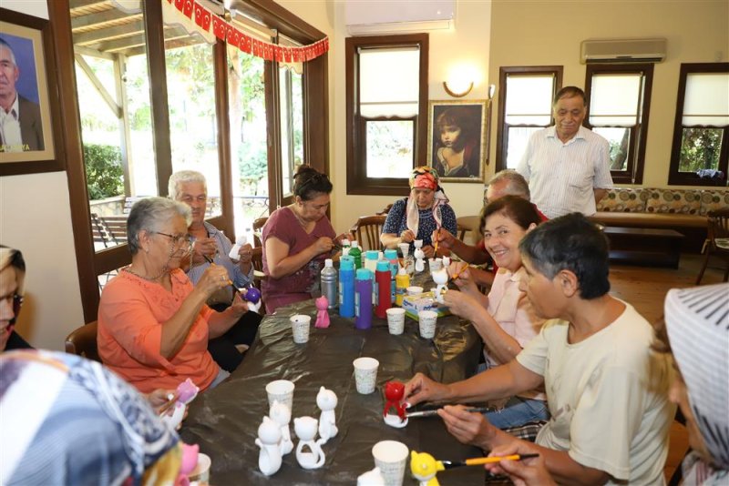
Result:
{"label": "dark wooden window frame between girl painting and standing man", "polygon": [[[496,171],[507,168],[508,156],[508,126],[506,123],[507,109],[507,77],[508,75],[522,76],[554,76],[554,92],[552,99],[549,100],[549,126],[554,125],[554,116],[552,116],[552,101],[554,96],[562,88],[563,66],[501,66],[498,68],[498,126],[497,126],[497,145],[496,145]],[[538,125],[519,125],[515,127],[542,127]]]}

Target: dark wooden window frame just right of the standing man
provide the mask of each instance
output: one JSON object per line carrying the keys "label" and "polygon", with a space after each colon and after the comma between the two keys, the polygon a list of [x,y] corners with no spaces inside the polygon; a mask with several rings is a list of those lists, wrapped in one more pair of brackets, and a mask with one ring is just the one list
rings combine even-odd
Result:
{"label": "dark wooden window frame just right of the standing man", "polygon": [[585,96],[587,98],[587,114],[582,122],[586,128],[590,125],[590,96],[592,92],[592,76],[601,74],[638,74],[643,76],[643,92],[641,98],[641,122],[630,127],[629,146],[631,157],[625,170],[611,170],[612,182],[616,184],[642,184],[643,167],[645,167],[645,144],[648,138],[648,119],[651,112],[653,86],[653,64],[606,65],[588,64],[585,66]]}

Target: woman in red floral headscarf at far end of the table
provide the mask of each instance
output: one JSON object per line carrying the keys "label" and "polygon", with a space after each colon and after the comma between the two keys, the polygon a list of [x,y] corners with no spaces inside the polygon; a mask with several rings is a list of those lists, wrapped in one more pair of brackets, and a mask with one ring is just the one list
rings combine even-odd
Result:
{"label": "woman in red floral headscarf at far end of the table", "polygon": [[455,236],[456,213],[448,206],[437,172],[431,167],[416,167],[410,173],[410,196],[395,201],[387,213],[380,242],[385,248],[397,248],[400,243],[410,243],[412,247],[414,240],[422,239],[426,258],[433,258],[431,237],[438,228]]}

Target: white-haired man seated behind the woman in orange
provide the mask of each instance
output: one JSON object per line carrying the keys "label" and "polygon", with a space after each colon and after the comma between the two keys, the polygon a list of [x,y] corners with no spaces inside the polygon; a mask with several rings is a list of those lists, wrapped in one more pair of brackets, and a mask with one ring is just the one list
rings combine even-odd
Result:
{"label": "white-haired man seated behind the woman in orange", "polygon": [[[188,232],[194,240],[190,259],[182,266],[193,285],[212,265],[228,270],[228,278],[236,288],[249,287],[253,281],[252,247],[243,245],[238,251],[238,261],[229,256],[232,243],[223,232],[205,221],[208,207],[208,186],[205,176],[195,170],[180,170],[169,177],[169,197],[186,204],[191,209],[192,220]],[[232,289],[226,287],[208,299],[215,310],[226,309],[233,300]],[[252,345],[261,316],[246,312],[228,332],[217,339],[210,339],[208,350],[223,370],[235,370],[243,359],[241,351]]]}

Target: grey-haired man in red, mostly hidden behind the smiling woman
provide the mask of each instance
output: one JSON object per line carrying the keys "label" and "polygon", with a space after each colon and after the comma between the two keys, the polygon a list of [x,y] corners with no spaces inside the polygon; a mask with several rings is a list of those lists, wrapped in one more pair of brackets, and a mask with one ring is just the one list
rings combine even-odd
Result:
{"label": "grey-haired man in red, mostly hidden behind the smiling woman", "polygon": [[[487,183],[486,195],[484,196],[484,206],[488,205],[490,201],[495,201],[498,198],[504,196],[518,196],[529,201],[529,184],[524,177],[519,174],[516,170],[504,169],[498,171],[491,177]],[[544,216],[539,208],[537,208],[539,217],[546,221],[547,217]],[[483,229],[484,221],[481,218],[480,224],[478,225],[479,231]],[[486,248],[484,247],[483,238],[478,240],[476,245],[468,245],[460,239],[454,237],[447,231],[438,232],[438,245],[443,248],[450,248],[458,258],[461,258],[467,263],[474,265],[483,265],[491,261]],[[496,270],[496,268],[495,268]],[[494,281],[494,273],[478,268],[470,268],[469,273],[471,278],[477,283],[477,285],[491,285]]]}

